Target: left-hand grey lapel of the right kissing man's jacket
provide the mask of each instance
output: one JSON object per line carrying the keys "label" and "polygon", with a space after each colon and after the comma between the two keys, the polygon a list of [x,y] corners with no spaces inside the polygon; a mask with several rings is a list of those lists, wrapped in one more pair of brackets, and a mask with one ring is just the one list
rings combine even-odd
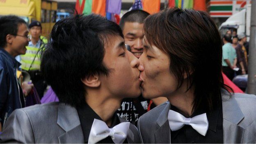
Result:
{"label": "left-hand grey lapel of the right kissing man's jacket", "polygon": [[170,103],[167,102],[167,105],[159,115],[156,123],[159,128],[155,131],[155,143],[161,144],[170,144],[171,143],[171,130],[168,122],[168,112],[170,110]]}

